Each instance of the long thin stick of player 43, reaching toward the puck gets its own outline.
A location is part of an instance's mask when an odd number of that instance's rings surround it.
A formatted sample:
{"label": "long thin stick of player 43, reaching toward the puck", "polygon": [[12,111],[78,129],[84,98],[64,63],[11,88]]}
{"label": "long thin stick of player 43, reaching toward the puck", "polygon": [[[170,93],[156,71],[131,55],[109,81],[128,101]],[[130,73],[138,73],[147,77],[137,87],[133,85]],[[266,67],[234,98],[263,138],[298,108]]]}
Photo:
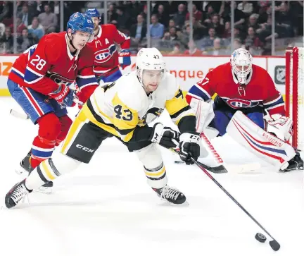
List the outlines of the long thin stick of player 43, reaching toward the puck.
{"label": "long thin stick of player 43, reaching toward the puck", "polygon": [[196,164],[196,166],[198,166],[198,168],[201,169],[205,173],[205,175],[207,175],[226,195],[228,195],[228,197],[233,202],[235,202],[236,205],[239,206],[243,210],[243,212],[245,212],[248,217],[250,217],[255,222],[255,224],[262,228],[262,230],[265,231],[265,233],[267,233],[270,238],[272,238],[272,240],[270,241],[270,247],[272,248],[272,250],[279,250],[281,245],[277,242],[277,240],[275,240],[272,235],[270,235],[270,233],[238,201],[236,201],[236,199],[227,190],[225,190],[223,186],[210,173],[208,173],[208,171],[203,166],[201,166],[198,161],[196,161],[193,157],[191,157],[191,160],[194,161],[194,164]]}

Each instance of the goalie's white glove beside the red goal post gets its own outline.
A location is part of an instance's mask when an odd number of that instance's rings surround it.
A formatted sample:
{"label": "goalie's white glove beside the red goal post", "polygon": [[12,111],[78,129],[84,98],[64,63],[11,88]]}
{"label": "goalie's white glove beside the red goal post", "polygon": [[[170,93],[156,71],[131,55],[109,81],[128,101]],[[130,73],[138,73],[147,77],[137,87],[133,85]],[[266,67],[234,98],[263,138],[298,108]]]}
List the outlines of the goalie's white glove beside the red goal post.
{"label": "goalie's white glove beside the red goal post", "polygon": [[267,113],[264,119],[267,121],[267,132],[274,133],[280,140],[287,141],[293,135],[293,121],[291,118],[280,114],[270,116]]}

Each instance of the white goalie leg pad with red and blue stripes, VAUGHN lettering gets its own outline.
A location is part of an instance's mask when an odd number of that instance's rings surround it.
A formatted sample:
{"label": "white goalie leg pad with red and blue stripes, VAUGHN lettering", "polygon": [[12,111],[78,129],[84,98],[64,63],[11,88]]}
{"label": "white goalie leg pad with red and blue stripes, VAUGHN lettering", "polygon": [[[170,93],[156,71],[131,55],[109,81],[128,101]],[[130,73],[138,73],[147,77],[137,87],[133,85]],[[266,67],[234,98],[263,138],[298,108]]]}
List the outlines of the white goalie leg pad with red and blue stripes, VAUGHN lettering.
{"label": "white goalie leg pad with red and blue stripes, VAUGHN lettering", "polygon": [[241,111],[234,114],[227,126],[227,133],[240,145],[278,170],[285,169],[288,161],[296,155],[291,145],[267,133]]}

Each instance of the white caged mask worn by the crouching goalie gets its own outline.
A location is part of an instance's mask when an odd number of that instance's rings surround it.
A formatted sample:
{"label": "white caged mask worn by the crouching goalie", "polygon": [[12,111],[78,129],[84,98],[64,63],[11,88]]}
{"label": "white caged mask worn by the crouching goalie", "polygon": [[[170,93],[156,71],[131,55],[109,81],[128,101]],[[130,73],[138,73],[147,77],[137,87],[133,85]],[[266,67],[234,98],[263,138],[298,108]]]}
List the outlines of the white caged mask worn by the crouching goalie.
{"label": "white caged mask worn by the crouching goalie", "polygon": [[252,71],[252,56],[246,49],[236,49],[231,56],[232,71],[241,84],[247,84]]}

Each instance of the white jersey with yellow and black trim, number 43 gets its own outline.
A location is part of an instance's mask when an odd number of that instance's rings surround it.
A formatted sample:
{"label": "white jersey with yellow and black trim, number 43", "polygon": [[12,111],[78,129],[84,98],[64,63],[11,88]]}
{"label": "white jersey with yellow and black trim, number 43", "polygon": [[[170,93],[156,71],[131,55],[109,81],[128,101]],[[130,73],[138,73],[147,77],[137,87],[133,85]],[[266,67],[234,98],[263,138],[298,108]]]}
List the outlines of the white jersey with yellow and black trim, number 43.
{"label": "white jersey with yellow and black trim, number 43", "polygon": [[[137,71],[97,87],[84,105],[89,121],[125,142],[132,140],[139,128],[155,120],[164,109],[177,125],[185,116],[195,116],[174,75],[165,73],[158,88],[147,95]],[[138,133],[136,137],[133,140],[148,140],[148,133]]]}

